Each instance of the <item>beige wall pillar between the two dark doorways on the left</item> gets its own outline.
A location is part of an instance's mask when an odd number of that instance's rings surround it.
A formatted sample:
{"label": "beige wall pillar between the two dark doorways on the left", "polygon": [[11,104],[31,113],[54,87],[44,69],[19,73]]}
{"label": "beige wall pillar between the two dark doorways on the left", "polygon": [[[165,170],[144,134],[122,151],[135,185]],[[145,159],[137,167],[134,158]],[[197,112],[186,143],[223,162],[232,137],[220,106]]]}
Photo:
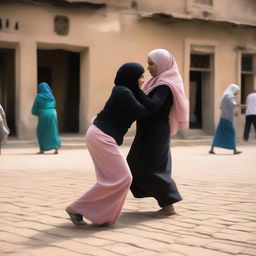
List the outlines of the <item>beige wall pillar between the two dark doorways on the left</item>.
{"label": "beige wall pillar between the two dark doorways on the left", "polygon": [[37,93],[37,45],[21,41],[16,50],[16,130],[18,139],[35,139],[31,108]]}

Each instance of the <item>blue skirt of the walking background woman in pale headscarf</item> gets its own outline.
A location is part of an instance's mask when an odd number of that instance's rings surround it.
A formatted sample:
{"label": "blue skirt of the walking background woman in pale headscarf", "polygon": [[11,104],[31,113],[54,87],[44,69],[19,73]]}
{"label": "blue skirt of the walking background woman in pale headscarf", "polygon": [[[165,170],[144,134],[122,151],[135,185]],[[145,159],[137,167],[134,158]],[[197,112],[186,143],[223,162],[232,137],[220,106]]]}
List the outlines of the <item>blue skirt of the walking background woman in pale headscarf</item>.
{"label": "blue skirt of the walking background woman in pale headscarf", "polygon": [[235,137],[236,133],[233,123],[224,118],[221,118],[217,126],[212,145],[219,148],[235,149]]}

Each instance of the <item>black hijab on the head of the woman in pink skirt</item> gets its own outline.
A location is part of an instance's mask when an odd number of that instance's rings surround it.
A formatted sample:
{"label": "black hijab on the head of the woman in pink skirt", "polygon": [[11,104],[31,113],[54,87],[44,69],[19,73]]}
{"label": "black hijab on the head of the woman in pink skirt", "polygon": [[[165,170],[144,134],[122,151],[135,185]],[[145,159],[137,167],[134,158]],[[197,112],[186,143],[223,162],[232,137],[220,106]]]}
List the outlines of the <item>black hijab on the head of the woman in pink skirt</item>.
{"label": "black hijab on the head of the woman in pink skirt", "polygon": [[136,94],[139,90],[138,80],[144,72],[143,66],[139,63],[125,63],[118,69],[114,83],[116,86],[126,86]]}

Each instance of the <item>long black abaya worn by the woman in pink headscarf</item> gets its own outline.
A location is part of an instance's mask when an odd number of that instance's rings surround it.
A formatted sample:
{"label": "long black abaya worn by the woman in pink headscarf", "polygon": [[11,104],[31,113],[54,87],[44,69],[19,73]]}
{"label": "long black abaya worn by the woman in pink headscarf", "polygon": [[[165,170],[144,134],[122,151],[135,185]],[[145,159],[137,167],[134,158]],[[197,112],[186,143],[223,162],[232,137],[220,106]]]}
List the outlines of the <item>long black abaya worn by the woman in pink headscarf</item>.
{"label": "long black abaya worn by the woman in pink headscarf", "polygon": [[173,103],[171,89],[161,85],[151,91],[155,103],[152,115],[137,120],[137,130],[127,162],[132,172],[134,197],[154,197],[160,207],[182,200],[171,178],[170,126],[168,115]]}

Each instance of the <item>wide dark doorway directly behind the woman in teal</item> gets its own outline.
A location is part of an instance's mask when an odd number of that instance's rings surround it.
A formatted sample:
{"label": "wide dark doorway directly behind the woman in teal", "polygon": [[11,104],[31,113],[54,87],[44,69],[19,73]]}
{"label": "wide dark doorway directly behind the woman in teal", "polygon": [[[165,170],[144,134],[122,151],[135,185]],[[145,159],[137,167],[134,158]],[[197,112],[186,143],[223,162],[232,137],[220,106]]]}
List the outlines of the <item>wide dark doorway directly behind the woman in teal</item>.
{"label": "wide dark doorway directly behind the woman in teal", "polygon": [[47,82],[56,99],[61,133],[79,132],[80,53],[37,50],[38,83]]}

